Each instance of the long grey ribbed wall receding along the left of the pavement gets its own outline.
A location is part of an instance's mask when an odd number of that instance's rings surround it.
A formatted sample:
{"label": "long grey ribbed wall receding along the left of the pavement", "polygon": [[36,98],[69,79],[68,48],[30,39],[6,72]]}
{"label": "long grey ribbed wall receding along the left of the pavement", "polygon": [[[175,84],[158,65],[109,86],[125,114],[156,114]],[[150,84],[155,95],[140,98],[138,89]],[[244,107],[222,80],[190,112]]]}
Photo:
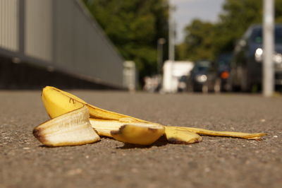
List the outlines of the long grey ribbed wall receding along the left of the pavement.
{"label": "long grey ribbed wall receding along the left of the pavement", "polygon": [[123,87],[123,59],[79,0],[0,0],[1,54]]}

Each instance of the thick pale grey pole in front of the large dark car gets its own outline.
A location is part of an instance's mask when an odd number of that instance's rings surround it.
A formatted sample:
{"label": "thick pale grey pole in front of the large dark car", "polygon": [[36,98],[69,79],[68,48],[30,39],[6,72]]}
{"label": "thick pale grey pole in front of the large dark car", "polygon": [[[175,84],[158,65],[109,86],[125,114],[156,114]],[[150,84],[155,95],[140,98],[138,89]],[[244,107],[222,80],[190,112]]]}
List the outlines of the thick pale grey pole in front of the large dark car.
{"label": "thick pale grey pole in front of the large dark car", "polygon": [[274,93],[274,0],[264,0],[263,31],[263,95],[271,97]]}

